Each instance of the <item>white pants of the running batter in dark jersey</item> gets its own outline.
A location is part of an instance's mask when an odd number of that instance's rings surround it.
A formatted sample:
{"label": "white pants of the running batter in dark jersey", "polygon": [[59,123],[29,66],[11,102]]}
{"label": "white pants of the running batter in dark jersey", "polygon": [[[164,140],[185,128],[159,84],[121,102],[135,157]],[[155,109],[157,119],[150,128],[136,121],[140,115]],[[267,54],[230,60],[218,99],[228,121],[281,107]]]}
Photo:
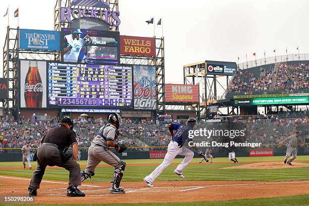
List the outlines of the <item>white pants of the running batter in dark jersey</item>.
{"label": "white pants of the running batter in dark jersey", "polygon": [[157,177],[172,163],[177,155],[185,156],[183,161],[177,166],[176,172],[182,174],[182,170],[191,162],[194,153],[186,147],[178,146],[177,142],[171,141],[168,145],[168,150],[165,155],[164,161],[153,172],[146,176],[145,179],[149,182],[153,182]]}

